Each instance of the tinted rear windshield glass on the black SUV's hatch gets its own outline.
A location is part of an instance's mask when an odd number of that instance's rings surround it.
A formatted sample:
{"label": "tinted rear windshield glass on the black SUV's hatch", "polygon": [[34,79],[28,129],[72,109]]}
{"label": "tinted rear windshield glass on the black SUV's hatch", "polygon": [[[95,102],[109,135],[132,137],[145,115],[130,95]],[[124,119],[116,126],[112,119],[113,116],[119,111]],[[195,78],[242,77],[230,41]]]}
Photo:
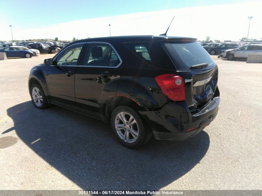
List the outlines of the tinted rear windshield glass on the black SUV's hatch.
{"label": "tinted rear windshield glass on the black SUV's hatch", "polygon": [[191,43],[163,43],[175,66],[181,70],[190,70],[193,65],[208,63],[205,69],[215,66],[215,61],[196,41]]}

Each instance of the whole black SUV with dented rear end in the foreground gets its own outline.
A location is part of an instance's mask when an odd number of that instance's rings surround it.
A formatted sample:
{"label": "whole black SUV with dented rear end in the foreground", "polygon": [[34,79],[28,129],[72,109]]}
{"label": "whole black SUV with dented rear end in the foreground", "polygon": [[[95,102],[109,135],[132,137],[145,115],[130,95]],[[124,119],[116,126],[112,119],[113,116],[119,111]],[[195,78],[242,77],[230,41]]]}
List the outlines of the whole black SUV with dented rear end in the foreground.
{"label": "whole black SUV with dented rear end in the foreground", "polygon": [[[30,71],[35,107],[55,104],[110,122],[129,148],[183,140],[214,120],[218,67],[195,38],[122,36],[78,40]],[[58,122],[59,123],[59,122]]]}

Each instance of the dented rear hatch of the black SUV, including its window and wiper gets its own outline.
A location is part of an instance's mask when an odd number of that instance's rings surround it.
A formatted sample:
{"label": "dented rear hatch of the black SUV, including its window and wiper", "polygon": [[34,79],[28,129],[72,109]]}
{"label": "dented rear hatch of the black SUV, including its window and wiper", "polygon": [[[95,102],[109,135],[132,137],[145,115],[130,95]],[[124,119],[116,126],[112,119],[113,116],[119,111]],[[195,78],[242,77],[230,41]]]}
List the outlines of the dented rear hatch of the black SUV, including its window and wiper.
{"label": "dented rear hatch of the black SUV, including its window and wiper", "polygon": [[193,38],[162,41],[175,66],[175,74],[184,79],[185,98],[191,112],[198,112],[215,96],[218,68],[215,61]]}

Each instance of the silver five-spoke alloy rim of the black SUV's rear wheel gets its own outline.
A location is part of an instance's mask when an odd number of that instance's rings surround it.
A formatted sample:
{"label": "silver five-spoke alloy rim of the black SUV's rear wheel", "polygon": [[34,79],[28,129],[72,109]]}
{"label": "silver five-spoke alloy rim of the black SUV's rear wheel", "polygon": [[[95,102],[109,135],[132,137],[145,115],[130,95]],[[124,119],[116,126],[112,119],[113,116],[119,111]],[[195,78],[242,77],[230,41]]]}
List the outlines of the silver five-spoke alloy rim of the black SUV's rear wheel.
{"label": "silver five-spoke alloy rim of the black SUV's rear wheel", "polygon": [[120,112],[115,118],[118,136],[127,143],[133,143],[138,137],[138,125],[134,117],[127,112]]}

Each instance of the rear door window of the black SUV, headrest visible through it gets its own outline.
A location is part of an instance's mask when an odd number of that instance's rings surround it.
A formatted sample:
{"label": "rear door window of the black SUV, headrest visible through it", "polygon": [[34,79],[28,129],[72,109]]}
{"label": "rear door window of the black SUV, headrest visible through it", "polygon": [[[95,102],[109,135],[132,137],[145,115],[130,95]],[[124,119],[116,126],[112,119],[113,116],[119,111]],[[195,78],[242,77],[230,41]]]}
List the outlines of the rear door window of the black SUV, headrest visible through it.
{"label": "rear door window of the black SUV, headrest visible through it", "polygon": [[120,63],[113,48],[107,44],[89,44],[83,65],[94,67],[116,67]]}

